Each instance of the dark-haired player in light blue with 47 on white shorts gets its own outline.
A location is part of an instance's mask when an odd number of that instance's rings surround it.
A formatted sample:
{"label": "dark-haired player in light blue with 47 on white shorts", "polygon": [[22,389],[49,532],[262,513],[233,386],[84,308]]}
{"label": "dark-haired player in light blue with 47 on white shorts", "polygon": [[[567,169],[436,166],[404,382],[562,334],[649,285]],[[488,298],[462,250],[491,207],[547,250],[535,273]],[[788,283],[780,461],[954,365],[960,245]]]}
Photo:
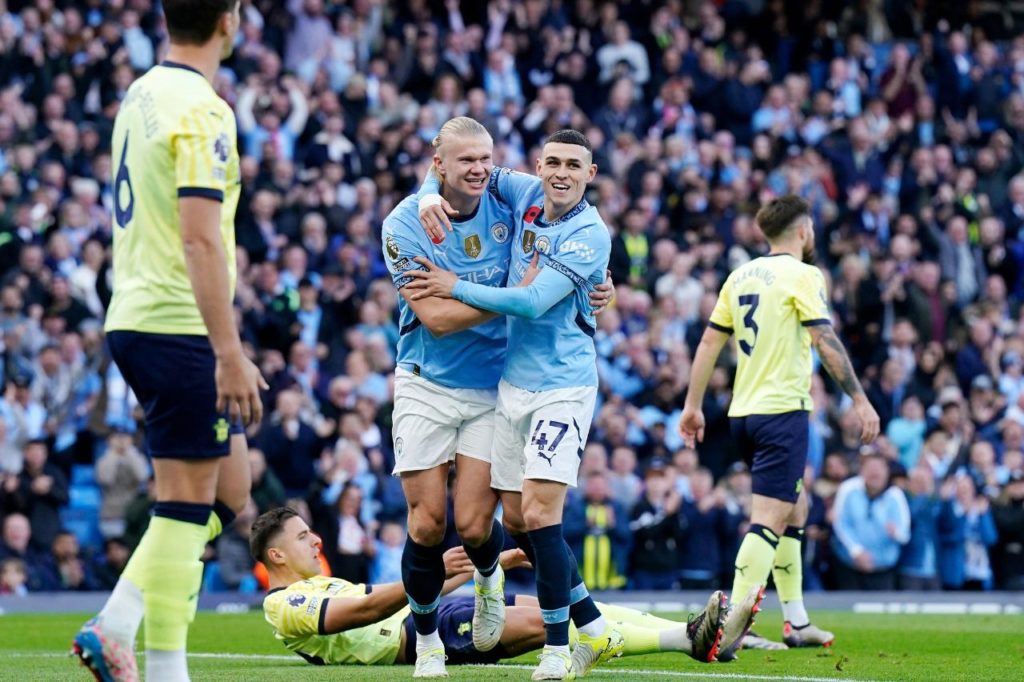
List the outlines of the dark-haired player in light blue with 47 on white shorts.
{"label": "dark-haired player in light blue with 47 on white shorts", "polygon": [[[537,571],[546,643],[532,679],[584,676],[599,660],[622,652],[622,635],[594,605],[562,538],[562,509],[575,485],[597,395],[593,311],[588,292],[603,280],[611,251],[607,227],[584,199],[593,180],[590,142],[562,130],[545,142],[540,178],[504,169],[488,188],[512,207],[516,225],[512,271],[516,284],[535,252],[536,280],[516,289],[483,287],[418,258],[406,290],[420,297],[451,297],[510,315],[509,350],[499,384],[492,487],[501,491],[506,517],[525,522]],[[421,189],[429,193],[431,183]],[[436,187],[436,183],[433,183]],[[424,213],[439,204],[423,196]],[[441,212],[440,209],[436,209]],[[425,220],[426,222],[426,220]],[[521,492],[521,495],[520,495]],[[580,633],[569,654],[568,621]]]}

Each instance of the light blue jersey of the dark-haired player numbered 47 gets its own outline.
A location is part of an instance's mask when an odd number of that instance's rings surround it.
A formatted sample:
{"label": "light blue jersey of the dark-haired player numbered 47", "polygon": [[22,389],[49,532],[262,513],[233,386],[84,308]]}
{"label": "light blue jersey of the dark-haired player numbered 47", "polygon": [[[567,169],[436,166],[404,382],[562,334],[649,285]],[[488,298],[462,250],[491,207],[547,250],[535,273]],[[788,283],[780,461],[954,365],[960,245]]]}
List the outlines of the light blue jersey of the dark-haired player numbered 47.
{"label": "light blue jersey of the dark-haired player numbered 47", "polygon": [[[495,168],[488,194],[512,208],[515,233],[507,286],[522,280],[535,251],[541,253],[544,269],[527,288],[535,290],[532,296],[526,289],[483,292],[460,284],[456,298],[510,315],[502,375],[510,384],[530,391],[596,386],[595,321],[589,295],[604,281],[608,266],[607,226],[586,200],[558,220],[546,222],[540,178],[507,168]],[[567,279],[570,288],[546,269]],[[545,300],[555,288],[566,293],[557,301]]]}

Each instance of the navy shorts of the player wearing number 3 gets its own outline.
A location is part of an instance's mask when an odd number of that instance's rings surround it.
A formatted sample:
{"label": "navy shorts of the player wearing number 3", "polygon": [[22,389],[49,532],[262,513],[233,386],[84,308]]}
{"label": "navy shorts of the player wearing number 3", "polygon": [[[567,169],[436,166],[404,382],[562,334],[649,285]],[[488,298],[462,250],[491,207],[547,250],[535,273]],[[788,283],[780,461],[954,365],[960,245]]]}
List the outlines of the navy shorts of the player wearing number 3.
{"label": "navy shorts of the player wearing number 3", "polygon": [[803,487],[810,413],[750,415],[729,420],[732,439],[751,467],[755,495],[796,502]]}

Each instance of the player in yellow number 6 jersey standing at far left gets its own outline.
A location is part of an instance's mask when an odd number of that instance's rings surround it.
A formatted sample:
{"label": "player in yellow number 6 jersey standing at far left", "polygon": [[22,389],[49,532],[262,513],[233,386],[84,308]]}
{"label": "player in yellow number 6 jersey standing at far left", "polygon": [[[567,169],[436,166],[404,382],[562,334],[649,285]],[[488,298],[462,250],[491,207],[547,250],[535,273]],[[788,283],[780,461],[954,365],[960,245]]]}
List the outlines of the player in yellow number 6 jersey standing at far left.
{"label": "player in yellow number 6 jersey standing at far left", "polygon": [[268,388],[246,355],[231,300],[241,185],[234,113],[214,90],[239,0],[162,0],[166,58],[137,78],[111,136],[114,287],[103,330],[145,414],[156,504],[102,610],[74,652],[100,682],[187,682],[201,557],[249,500],[244,426]]}

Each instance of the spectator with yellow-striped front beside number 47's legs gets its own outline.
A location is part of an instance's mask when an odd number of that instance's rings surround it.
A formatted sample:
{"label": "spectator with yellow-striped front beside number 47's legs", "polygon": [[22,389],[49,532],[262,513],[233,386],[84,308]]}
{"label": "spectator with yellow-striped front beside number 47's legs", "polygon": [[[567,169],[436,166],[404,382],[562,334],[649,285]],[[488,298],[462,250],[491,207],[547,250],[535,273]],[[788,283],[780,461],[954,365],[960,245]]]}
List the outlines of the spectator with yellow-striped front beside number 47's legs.
{"label": "spectator with yellow-striped front beside number 47's legs", "polygon": [[595,590],[622,588],[630,547],[629,516],[611,499],[606,473],[588,474],[582,493],[566,502],[562,521],[565,542],[588,586]]}

